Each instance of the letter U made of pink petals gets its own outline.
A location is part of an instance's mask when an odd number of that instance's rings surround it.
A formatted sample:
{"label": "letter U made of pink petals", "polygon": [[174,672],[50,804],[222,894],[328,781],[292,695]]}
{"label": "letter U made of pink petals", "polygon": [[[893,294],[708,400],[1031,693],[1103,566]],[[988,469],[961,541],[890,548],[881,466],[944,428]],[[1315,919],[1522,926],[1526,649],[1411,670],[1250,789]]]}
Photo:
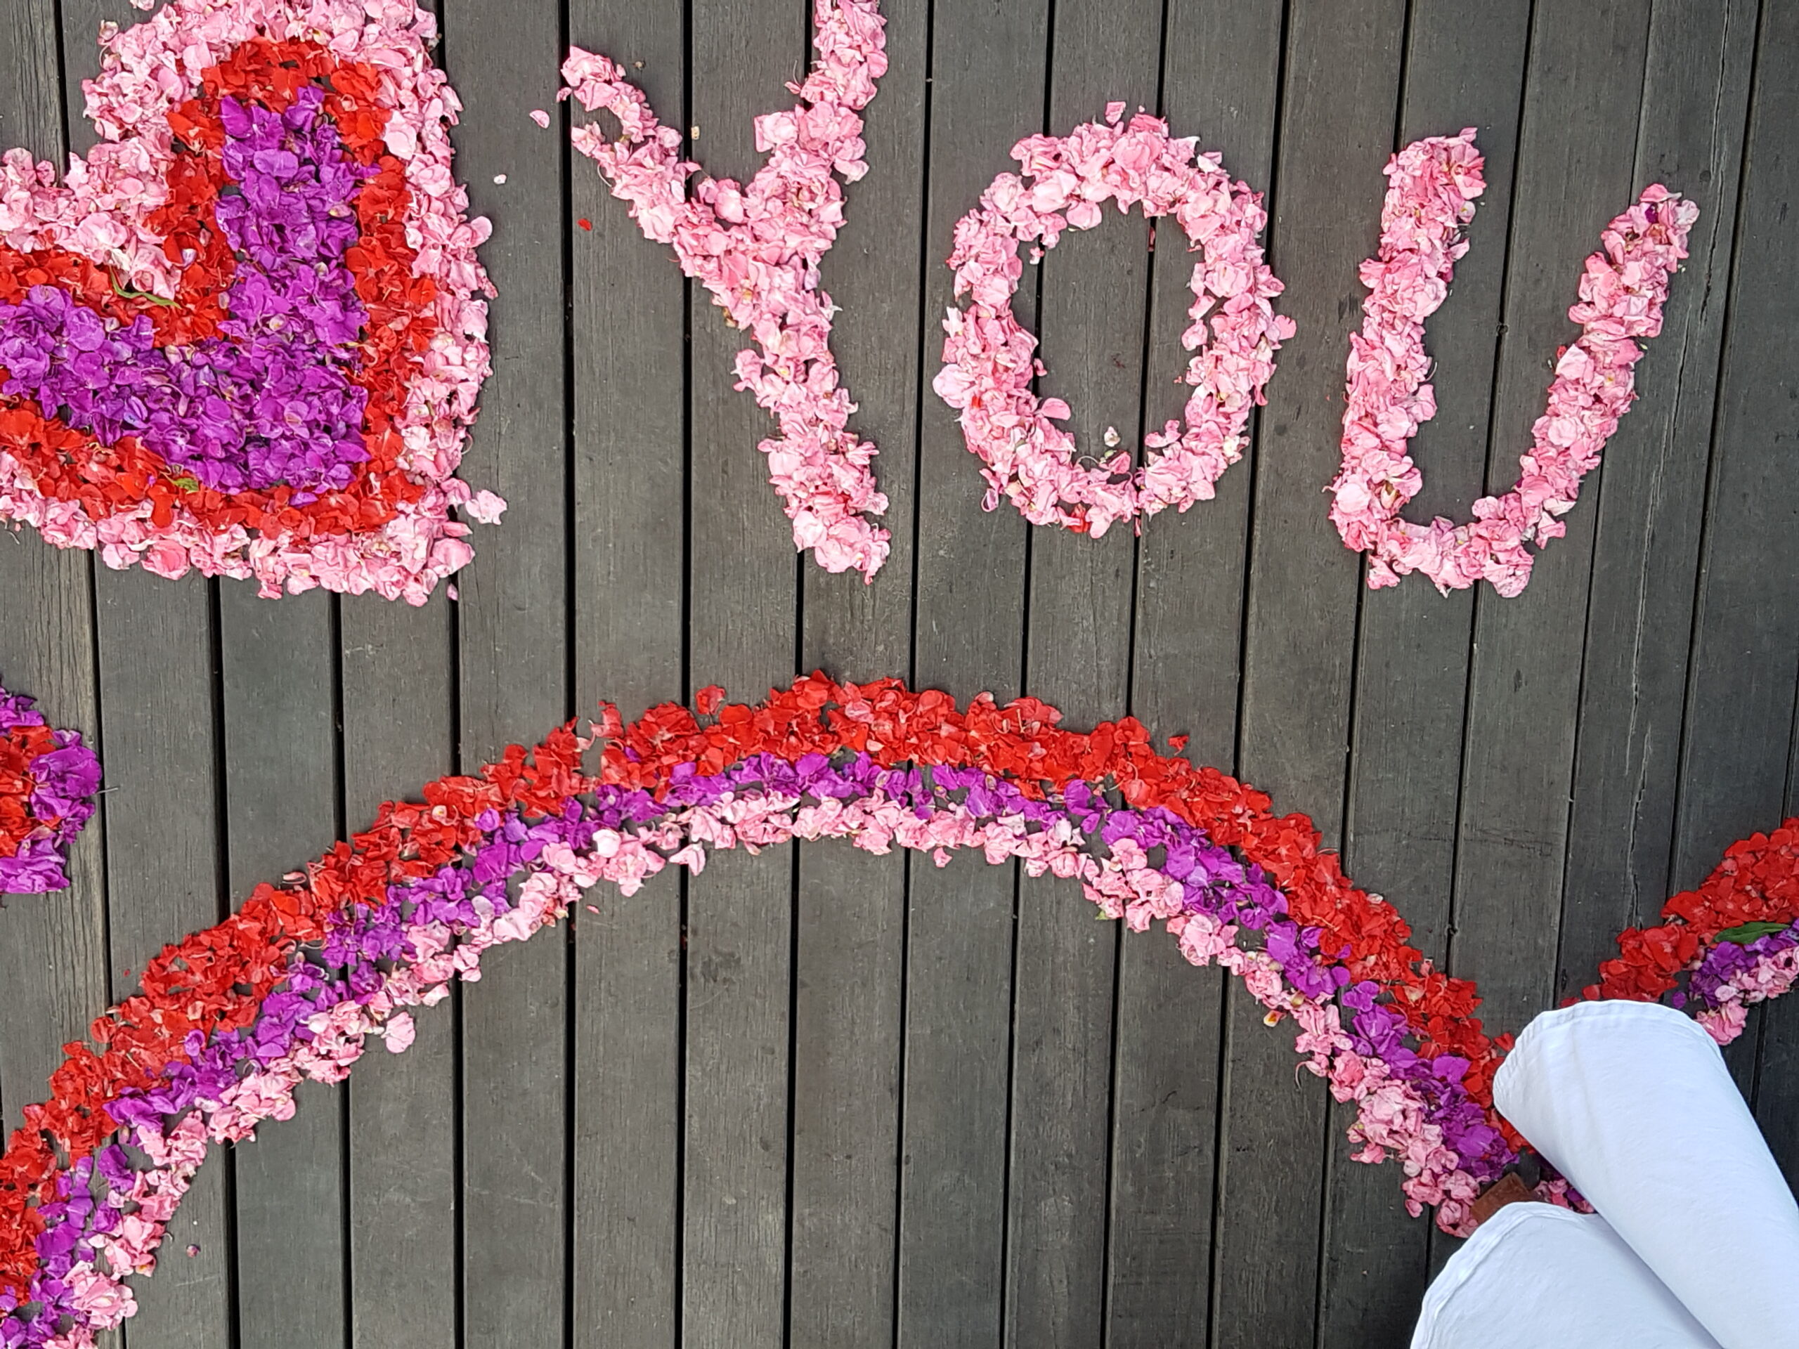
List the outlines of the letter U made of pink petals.
{"label": "letter U made of pink petals", "polygon": [[1698,218],[1695,203],[1655,183],[1605,227],[1605,248],[1587,259],[1580,304],[1569,309],[1581,336],[1556,360],[1517,486],[1477,500],[1468,523],[1437,516],[1418,525],[1400,509],[1423,486],[1407,444],[1437,412],[1425,378],[1425,318],[1448,297],[1455,259],[1468,252],[1463,236],[1486,191],[1481,167],[1473,128],[1414,140],[1387,162],[1380,254],[1362,263],[1369,297],[1362,331],[1349,336],[1342,468],[1331,482],[1331,523],[1344,545],[1369,556],[1373,590],[1407,572],[1423,572],[1443,594],[1475,581],[1508,597],[1524,590],[1535,561],[1526,545],[1567,531],[1562,516],[1635,398],[1637,340],[1660,333],[1668,282]]}

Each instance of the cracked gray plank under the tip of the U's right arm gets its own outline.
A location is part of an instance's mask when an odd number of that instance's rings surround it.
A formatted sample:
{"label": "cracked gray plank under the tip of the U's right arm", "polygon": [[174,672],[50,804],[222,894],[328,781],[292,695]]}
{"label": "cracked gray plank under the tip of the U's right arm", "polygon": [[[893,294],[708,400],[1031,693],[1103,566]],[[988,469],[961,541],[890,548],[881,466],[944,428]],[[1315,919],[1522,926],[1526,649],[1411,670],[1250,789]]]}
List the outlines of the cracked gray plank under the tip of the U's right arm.
{"label": "cracked gray plank under the tip of the U's right arm", "polygon": [[1655,923],[1669,894],[1756,9],[1747,0],[1659,0],[1650,22],[1635,185],[1664,182],[1702,214],[1662,335],[1637,367],[1633,441],[1608,457],[1599,482],[1558,996],[1594,978],[1623,928]]}

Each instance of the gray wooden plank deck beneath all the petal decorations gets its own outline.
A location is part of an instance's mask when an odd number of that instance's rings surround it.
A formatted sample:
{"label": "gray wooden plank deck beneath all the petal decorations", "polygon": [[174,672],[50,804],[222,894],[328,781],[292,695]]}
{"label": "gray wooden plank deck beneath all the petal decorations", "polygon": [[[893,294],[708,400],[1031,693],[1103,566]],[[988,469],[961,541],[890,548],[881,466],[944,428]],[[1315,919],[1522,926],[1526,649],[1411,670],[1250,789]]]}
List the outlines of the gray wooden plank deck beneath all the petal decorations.
{"label": "gray wooden plank deck beneath all the petal decorations", "polygon": [[[1799,4],[885,9],[873,171],[824,264],[892,498],[876,585],[795,559],[736,335],[525,119],[572,38],[642,61],[705,165],[747,176],[804,0],[441,0],[500,286],[466,477],[511,502],[461,601],[264,603],[0,538],[0,676],[88,732],[108,782],[74,890],[0,912],[7,1128],[162,943],[603,696],[635,714],[822,666],[1191,732],[1308,811],[1497,1027],[1799,809]],[[92,34],[131,16],[0,4],[0,140],[88,144]],[[1268,192],[1299,336],[1216,502],[1092,541],[982,513],[928,383],[952,223],[1016,138],[1108,99]],[[1641,401],[1517,601],[1367,592],[1320,491],[1380,167],[1463,126],[1491,187],[1430,326],[1427,513],[1513,480],[1601,225],[1655,180],[1704,210]],[[1020,295],[1088,444],[1178,410],[1187,268],[1108,218]],[[131,1349],[1353,1349],[1403,1344],[1446,1255],[1392,1167],[1349,1160],[1288,1034],[1069,883],[802,847],[595,903],[209,1166]],[[1799,1167],[1799,998],[1732,1065]]]}

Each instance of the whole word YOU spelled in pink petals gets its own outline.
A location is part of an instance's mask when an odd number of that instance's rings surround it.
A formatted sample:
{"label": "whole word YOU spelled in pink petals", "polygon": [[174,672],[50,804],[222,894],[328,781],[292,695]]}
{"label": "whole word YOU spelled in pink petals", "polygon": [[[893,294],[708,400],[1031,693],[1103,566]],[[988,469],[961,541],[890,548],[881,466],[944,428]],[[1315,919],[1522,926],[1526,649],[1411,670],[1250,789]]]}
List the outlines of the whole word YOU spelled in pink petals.
{"label": "whole word YOU spelled in pink petals", "polygon": [[[804,85],[790,86],[799,104],[756,121],[768,160],[748,187],[702,176],[689,191],[700,165],[680,156],[680,133],[657,121],[612,59],[572,49],[561,94],[617,119],[617,138],[592,124],[576,128],[576,149],[599,165],[646,236],[673,245],[727,322],[754,336],[756,347],[738,353],[738,389],[779,424],[761,450],[795,545],[828,570],[867,577],[887,558],[887,531],[874,523],[887,498],[874,480],[876,448],[847,424],[855,403],[831,356],[835,306],[819,288],[819,264],[844,221],[838,178],[867,171],[860,113],[887,68],[882,25],[876,0],[819,0],[819,59]],[[1124,104],[1112,103],[1103,121],[1065,137],[1020,140],[1013,158],[1022,173],[998,174],[957,223],[948,263],[957,297],[970,302],[944,320],[934,389],[982,462],[989,511],[1006,498],[1031,523],[1099,536],[1119,520],[1141,525],[1168,507],[1209,500],[1243,455],[1249,417],[1293,324],[1272,309],[1283,286],[1259,243],[1259,196],[1196,144],[1148,113],[1126,121]],[[1558,353],[1517,486],[1475,502],[1472,522],[1416,525],[1400,511],[1421,486],[1407,444],[1436,414],[1423,322],[1448,297],[1454,263],[1466,252],[1481,167],[1466,130],[1418,140],[1385,169],[1380,254],[1362,264],[1371,295],[1362,331],[1349,336],[1342,468],[1329,484],[1331,522],[1349,549],[1369,554],[1371,586],[1418,570],[1445,592],[1475,581],[1500,595],[1524,590],[1533,549],[1563,532],[1581,477],[1633,399],[1641,342],[1660,331],[1668,282],[1698,212],[1653,185],[1605,228],[1569,311],[1580,340]],[[1173,216],[1200,254],[1182,333],[1195,353],[1182,376],[1193,394],[1182,421],[1144,435],[1139,466],[1126,450],[1081,459],[1058,426],[1069,405],[1033,389],[1047,371],[1036,336],[1011,308],[1024,275],[1018,246],[1029,243],[1031,261],[1040,261],[1065,228],[1094,228],[1106,201],[1124,212],[1141,207],[1151,221]]]}

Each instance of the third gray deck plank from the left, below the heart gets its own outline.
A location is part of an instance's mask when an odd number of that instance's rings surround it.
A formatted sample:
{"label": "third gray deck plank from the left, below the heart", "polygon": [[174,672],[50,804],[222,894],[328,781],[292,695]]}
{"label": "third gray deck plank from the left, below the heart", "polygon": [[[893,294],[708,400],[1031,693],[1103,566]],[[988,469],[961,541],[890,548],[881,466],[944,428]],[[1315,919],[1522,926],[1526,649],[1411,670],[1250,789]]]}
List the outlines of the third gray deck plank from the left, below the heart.
{"label": "third gray deck plank from the left, below the heart", "polygon": [[[219,585],[225,849],[232,901],[338,836],[336,642],[322,590],[257,599]],[[236,1149],[245,1344],[345,1340],[344,1094],[300,1083],[293,1119]]]}

